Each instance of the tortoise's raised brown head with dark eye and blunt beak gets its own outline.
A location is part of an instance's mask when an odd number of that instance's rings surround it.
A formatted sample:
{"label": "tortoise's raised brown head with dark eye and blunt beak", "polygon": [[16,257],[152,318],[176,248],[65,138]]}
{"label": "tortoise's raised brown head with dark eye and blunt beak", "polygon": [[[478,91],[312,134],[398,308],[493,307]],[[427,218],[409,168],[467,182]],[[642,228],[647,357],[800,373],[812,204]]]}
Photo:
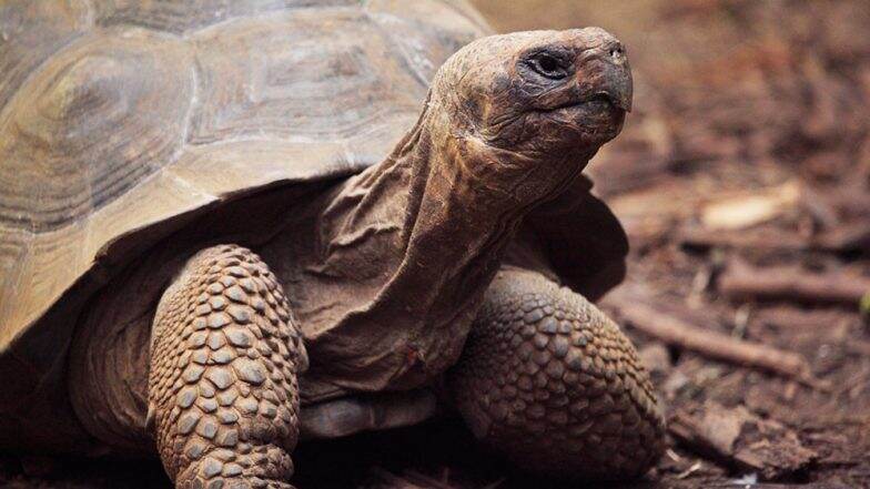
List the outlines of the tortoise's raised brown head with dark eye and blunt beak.
{"label": "tortoise's raised brown head with dark eye and blunt beak", "polygon": [[623,44],[603,29],[494,35],[445,63],[431,103],[445,105],[466,154],[483,156],[466,163],[473,173],[540,200],[619,133],[631,71]]}

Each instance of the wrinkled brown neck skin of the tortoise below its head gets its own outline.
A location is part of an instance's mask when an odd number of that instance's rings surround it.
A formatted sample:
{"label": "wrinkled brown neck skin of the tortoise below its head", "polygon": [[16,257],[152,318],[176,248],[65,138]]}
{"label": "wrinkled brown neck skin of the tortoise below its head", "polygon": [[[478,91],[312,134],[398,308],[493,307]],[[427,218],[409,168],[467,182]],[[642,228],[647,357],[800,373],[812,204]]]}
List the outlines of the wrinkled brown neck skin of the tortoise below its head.
{"label": "wrinkled brown neck skin of the tortoise below its head", "polygon": [[318,211],[313,262],[289,287],[312,361],[303,401],[409,389],[453,365],[523,216],[591,156],[565,156],[553,175],[458,132],[452,112],[428,103],[390,157]]}

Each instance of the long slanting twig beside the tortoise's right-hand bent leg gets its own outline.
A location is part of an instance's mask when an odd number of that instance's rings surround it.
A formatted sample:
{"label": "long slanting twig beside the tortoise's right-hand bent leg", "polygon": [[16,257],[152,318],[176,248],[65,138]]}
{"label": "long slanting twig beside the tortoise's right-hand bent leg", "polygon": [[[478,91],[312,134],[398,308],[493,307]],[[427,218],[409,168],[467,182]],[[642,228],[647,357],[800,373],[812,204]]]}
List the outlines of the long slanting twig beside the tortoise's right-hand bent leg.
{"label": "long slanting twig beside the tortoise's right-hand bent leg", "polygon": [[810,377],[807,360],[796,353],[698,328],[672,314],[662,313],[645,304],[643,299],[625,294],[608,296],[605,304],[613,305],[617,315],[636,329],[668,345],[690,349],[706,357],[798,378],[810,385],[818,384]]}

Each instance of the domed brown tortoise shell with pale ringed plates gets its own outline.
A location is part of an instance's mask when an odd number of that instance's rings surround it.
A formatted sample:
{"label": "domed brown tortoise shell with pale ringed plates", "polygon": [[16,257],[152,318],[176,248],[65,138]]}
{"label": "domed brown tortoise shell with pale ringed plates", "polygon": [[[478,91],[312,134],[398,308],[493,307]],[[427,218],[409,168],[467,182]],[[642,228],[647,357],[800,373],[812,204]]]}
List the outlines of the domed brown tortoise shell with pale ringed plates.
{"label": "domed brown tortoise shell with pale ringed plates", "polygon": [[464,0],[92,3],[0,7],[0,371],[188,217],[382,160],[487,31]]}

